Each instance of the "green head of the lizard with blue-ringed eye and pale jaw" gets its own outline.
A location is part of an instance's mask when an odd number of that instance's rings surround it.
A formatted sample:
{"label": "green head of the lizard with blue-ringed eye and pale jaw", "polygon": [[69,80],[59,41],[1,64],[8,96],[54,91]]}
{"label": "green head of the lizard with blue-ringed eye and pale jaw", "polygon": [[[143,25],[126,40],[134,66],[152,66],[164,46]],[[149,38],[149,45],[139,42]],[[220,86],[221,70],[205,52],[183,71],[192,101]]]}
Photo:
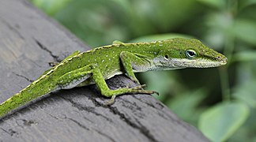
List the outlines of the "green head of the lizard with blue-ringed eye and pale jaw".
{"label": "green head of the lizard with blue-ringed eye and pale jaw", "polygon": [[162,45],[156,60],[166,69],[209,68],[225,65],[228,59],[206,47],[198,39],[168,39]]}

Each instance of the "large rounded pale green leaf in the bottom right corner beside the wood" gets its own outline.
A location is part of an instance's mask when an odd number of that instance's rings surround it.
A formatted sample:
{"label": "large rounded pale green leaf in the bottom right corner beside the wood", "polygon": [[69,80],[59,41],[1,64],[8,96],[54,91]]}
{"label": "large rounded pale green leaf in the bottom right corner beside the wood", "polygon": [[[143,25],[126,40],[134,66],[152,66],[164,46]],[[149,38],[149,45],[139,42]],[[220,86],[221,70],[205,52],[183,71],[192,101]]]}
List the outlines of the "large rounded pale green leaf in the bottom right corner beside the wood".
{"label": "large rounded pale green leaf in the bottom right corner beside the wood", "polygon": [[199,118],[199,129],[212,141],[225,141],[247,120],[249,108],[244,103],[220,103]]}

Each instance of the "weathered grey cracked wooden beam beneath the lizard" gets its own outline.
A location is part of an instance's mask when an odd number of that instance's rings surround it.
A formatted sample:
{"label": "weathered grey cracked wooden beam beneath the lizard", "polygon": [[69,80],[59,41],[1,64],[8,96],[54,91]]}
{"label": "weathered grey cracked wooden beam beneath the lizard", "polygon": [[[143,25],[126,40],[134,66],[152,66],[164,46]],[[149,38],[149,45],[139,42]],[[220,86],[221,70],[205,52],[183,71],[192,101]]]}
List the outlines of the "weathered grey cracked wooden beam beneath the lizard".
{"label": "weathered grey cracked wooden beam beneath the lizard", "polygon": [[[88,35],[89,36],[89,35]],[[0,102],[74,50],[77,38],[24,0],[0,1]],[[135,85],[125,76],[112,89]],[[150,95],[122,95],[111,107],[94,85],[51,93],[0,121],[0,141],[208,141]]]}

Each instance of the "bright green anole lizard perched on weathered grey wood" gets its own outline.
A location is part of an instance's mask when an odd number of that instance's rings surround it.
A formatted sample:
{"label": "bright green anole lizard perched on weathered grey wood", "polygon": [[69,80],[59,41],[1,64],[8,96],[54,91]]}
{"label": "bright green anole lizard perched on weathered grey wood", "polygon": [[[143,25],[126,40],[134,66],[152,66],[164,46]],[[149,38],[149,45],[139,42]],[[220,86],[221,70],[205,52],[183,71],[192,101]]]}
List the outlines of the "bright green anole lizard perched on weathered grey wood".
{"label": "bright green anole lizard perched on weathered grey wood", "polygon": [[197,39],[177,38],[150,43],[115,41],[108,46],[70,54],[21,92],[1,103],[0,118],[50,92],[88,84],[96,84],[102,95],[111,97],[109,103],[114,103],[116,95],[156,93],[143,90],[143,85],[110,90],[105,80],[122,73],[126,73],[127,77],[139,84],[134,76],[137,72],[209,68],[226,63],[227,58],[223,54],[206,47]]}

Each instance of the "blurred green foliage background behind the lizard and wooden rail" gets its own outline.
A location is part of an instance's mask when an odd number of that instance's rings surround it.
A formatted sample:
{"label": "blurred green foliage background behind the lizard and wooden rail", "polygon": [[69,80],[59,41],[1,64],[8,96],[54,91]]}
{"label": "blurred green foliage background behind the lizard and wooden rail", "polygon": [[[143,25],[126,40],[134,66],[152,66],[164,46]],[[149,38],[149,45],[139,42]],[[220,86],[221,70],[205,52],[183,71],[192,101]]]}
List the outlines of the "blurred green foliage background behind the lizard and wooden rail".
{"label": "blurred green foliage background behind the lizard and wooden rail", "polygon": [[256,141],[256,0],[31,0],[91,47],[194,37],[228,65],[140,73],[213,141]]}

